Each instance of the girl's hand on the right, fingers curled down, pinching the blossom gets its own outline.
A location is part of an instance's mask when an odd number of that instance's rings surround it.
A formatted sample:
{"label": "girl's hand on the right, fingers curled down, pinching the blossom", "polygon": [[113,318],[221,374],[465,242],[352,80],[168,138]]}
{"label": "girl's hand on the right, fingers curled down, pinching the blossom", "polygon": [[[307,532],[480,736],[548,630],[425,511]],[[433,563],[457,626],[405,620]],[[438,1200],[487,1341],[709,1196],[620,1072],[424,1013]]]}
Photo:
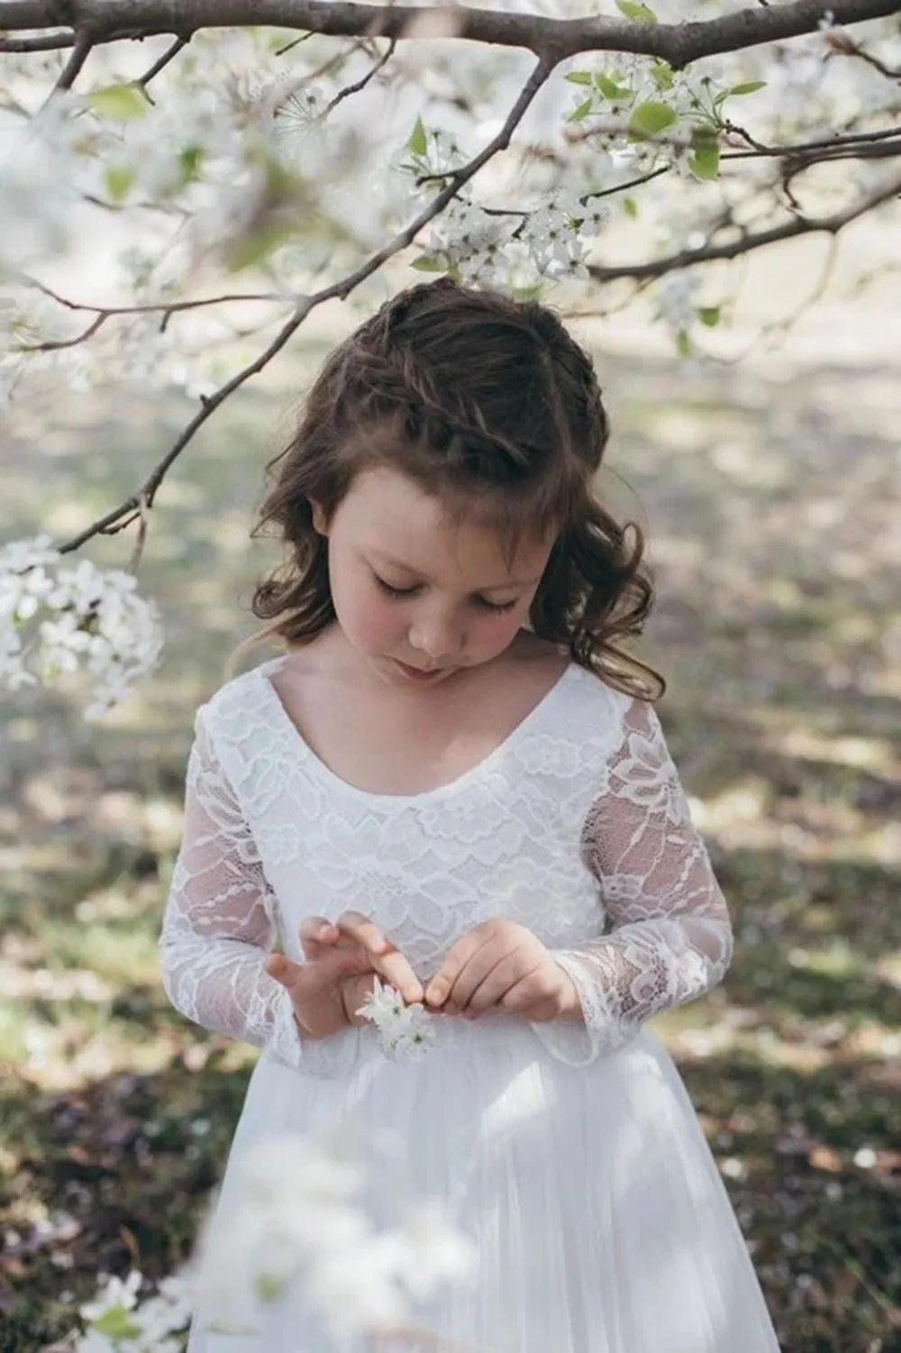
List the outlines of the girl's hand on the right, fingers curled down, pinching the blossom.
{"label": "girl's hand on the right, fingers curled down, pinching the blossom", "polygon": [[502,917],[468,931],[426,986],[426,1005],[478,1019],[492,1007],[532,1023],[582,1019],[575,984],[541,940]]}

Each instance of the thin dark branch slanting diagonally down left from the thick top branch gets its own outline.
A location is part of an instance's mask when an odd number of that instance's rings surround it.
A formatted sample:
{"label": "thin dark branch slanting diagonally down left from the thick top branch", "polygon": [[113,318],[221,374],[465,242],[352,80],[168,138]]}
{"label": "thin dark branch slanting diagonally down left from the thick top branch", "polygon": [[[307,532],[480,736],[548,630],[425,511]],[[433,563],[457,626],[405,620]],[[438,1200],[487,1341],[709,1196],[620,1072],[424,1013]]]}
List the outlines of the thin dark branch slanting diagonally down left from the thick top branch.
{"label": "thin dark branch slanting diagonally down left from the thick top branch", "polygon": [[321,291],[317,291],[311,296],[304,296],[303,300],[300,300],[295,307],[295,311],[291,315],[291,318],[281,326],[279,333],[275,336],[269,346],[262,353],[260,353],[260,356],[254,361],[249,363],[249,365],[244,367],[230,380],[227,380],[223,386],[221,386],[214,395],[202,399],[200,402],[202,406],[199,411],[191,419],[184,432],[179,436],[175,445],[164,456],[160,464],[156,465],[156,468],[150,472],[150,475],[141,486],[141,488],[135,494],[133,494],[131,498],[126,499],[126,502],[123,502],[119,507],[115,507],[112,511],[107,513],[106,517],[101,517],[99,521],[95,521],[93,525],[88,526],[85,530],[83,530],[73,540],[68,541],[65,545],[61,545],[60,552],[64,555],[70,553],[72,551],[78,549],[81,545],[84,545],[85,541],[91,540],[92,536],[97,536],[101,533],[115,534],[116,530],[122,530],[123,526],[127,525],[127,521],[126,522],[122,521],[123,517],[133,520],[129,514],[141,510],[142,503],[146,507],[152,507],[154,495],[160,484],[162,483],[166,471],[179,459],[179,456],[188,445],[188,442],[192,441],[195,433],[215,413],[215,410],[222,403],[225,403],[229,395],[234,394],[235,390],[239,390],[239,387],[244,386],[252,376],[256,376],[258,372],[261,372],[262,368],[267,367],[268,363],[272,361],[272,359],[279,352],[281,352],[284,345],[296,333],[296,330],[300,327],[307,315],[313,310],[315,310],[317,306],[323,304],[326,300],[333,300],[333,299],[345,300],[354,290],[354,287],[359,287],[361,281],[365,281],[367,277],[372,276],[373,272],[377,272],[377,269],[382,268],[382,265],[387,262],[388,258],[392,258],[395,254],[400,253],[402,249],[406,249],[407,245],[413,244],[413,241],[419,234],[422,227],[426,226],[430,221],[433,221],[441,211],[444,211],[451,199],[456,196],[456,193],[460,191],[460,188],[464,187],[464,184],[467,184],[472,177],[475,177],[479,169],[482,169],[483,165],[488,162],[488,160],[491,160],[495,154],[498,154],[498,152],[506,150],[506,147],[510,145],[510,138],[513,137],[513,133],[522,122],[522,118],[525,116],[538,89],[541,89],[541,87],[547,83],[548,77],[551,76],[555,68],[555,64],[556,62],[552,60],[538,60],[538,62],[532,70],[532,74],[529,76],[522,89],[519,91],[519,95],[515,103],[513,104],[510,112],[507,114],[503,127],[496,134],[496,137],[494,137],[488,142],[488,145],[479,152],[478,156],[475,156],[472,160],[469,160],[468,164],[465,164],[461,169],[457,170],[452,181],[445,188],[442,188],[436,198],[432,199],[429,206],[425,207],[419,212],[419,215],[410,222],[409,226],[406,226],[398,235],[395,235],[394,239],[388,241],[387,245],[384,245],[382,249],[373,253],[364,264],[360,265],[360,268],[356,269],[356,272],[352,272],[348,277],[344,277],[341,281],[336,281],[331,283],[331,285],[329,287],[323,287]]}

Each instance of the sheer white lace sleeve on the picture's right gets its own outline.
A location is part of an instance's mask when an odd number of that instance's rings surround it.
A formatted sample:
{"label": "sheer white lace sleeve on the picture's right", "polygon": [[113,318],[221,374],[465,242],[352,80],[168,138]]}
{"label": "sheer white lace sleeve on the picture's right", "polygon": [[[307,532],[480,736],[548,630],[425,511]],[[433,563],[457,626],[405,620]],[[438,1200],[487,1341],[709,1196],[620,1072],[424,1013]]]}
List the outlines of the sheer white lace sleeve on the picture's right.
{"label": "sheer white lace sleeve on the picture's right", "polygon": [[662,1011],[703,996],[732,959],[732,925],[651,705],[636,701],[609,783],[583,831],[613,930],[556,951],[579,992],[584,1027],[536,1026],[576,1065],[616,1049]]}

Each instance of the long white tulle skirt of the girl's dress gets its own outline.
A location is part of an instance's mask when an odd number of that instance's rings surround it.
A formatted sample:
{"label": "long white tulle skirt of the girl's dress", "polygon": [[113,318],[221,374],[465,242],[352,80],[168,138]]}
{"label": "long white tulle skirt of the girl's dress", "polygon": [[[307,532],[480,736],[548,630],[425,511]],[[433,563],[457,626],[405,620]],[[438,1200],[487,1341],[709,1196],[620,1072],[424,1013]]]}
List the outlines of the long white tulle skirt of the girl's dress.
{"label": "long white tulle skirt of the girl's dress", "polygon": [[[438,1045],[414,1063],[387,1061],[372,1030],[349,1035],[359,1051],[344,1070],[326,1045],[306,1072],[262,1054],[212,1227],[239,1224],[229,1204],[245,1151],[265,1150],[272,1134],[344,1122],[364,1151],[372,1143],[373,1158],[395,1134],[403,1187],[442,1203],[475,1245],[475,1272],[417,1312],[448,1346],[779,1353],[716,1162],[651,1030],[576,1068],[517,1022],[441,1026]],[[334,1349],[296,1302],[273,1307],[254,1335],[212,1333],[215,1316],[198,1311],[188,1353]],[[409,1342],[377,1345],[402,1346],[410,1353]]]}

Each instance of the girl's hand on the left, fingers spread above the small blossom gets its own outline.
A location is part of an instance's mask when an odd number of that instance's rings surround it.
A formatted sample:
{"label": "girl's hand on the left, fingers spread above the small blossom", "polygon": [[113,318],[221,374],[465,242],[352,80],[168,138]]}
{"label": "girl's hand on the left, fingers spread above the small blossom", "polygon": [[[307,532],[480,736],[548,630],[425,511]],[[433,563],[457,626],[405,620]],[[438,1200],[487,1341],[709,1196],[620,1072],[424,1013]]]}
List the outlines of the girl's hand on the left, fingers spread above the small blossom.
{"label": "girl's hand on the left, fingers spread above the small blossom", "polygon": [[264,966],[288,990],[303,1038],[329,1038],[364,1024],[357,1011],[376,976],[405,1001],[422,1000],[422,984],[403,954],[360,912],[345,912],[337,924],[307,916],[299,934],[304,963],[271,954]]}

